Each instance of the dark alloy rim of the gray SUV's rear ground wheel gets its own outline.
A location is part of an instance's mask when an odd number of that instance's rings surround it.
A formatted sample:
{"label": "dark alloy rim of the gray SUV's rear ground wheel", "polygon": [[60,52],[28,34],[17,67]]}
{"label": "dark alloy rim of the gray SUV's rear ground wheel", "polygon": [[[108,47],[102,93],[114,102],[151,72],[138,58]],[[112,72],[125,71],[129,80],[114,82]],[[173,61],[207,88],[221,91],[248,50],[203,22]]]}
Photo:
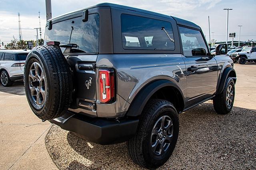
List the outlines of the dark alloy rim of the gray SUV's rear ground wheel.
{"label": "dark alloy rim of the gray SUV's rear ground wheel", "polygon": [[168,115],[160,117],[151,133],[151,149],[156,155],[161,155],[170,147],[173,135],[172,119]]}

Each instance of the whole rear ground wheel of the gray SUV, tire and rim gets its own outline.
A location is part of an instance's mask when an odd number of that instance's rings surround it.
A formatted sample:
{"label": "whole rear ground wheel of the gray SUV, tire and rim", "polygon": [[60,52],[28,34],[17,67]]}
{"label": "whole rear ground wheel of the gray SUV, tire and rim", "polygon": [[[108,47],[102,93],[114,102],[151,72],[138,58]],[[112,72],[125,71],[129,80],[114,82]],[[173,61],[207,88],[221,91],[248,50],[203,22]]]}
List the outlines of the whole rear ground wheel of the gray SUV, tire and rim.
{"label": "whole rear ground wheel of the gray SUV, tire and rim", "polygon": [[140,117],[136,135],[127,142],[132,160],[144,168],[158,168],[171,156],[179,133],[175,107],[166,100],[150,100]]}

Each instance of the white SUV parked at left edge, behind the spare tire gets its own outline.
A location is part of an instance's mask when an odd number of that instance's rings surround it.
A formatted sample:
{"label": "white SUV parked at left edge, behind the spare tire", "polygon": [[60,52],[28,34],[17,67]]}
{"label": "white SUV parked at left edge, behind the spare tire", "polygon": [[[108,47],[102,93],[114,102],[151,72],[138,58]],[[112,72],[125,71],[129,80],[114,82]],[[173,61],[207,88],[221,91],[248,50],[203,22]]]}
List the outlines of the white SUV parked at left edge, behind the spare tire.
{"label": "white SUV parked at left edge, behind the spare tire", "polygon": [[0,50],[0,82],[3,86],[11,86],[13,81],[23,78],[28,53],[26,50]]}

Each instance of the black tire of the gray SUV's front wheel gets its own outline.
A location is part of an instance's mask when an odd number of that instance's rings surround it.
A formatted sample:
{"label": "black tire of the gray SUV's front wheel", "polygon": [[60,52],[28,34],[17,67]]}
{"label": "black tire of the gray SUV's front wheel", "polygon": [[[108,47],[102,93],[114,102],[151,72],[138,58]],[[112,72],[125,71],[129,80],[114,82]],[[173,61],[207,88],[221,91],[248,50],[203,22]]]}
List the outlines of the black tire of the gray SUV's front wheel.
{"label": "black tire of the gray SUV's front wheel", "polygon": [[[229,87],[232,86],[232,101],[231,102],[227,102],[228,100],[228,91],[229,91]],[[229,95],[231,98],[231,95]],[[225,115],[227,113],[229,113],[232,110],[233,104],[234,104],[234,99],[235,99],[235,83],[234,80],[231,77],[228,77],[224,86],[223,91],[216,95],[213,99],[213,106],[214,106],[214,110],[218,113],[218,114],[222,114]]]}

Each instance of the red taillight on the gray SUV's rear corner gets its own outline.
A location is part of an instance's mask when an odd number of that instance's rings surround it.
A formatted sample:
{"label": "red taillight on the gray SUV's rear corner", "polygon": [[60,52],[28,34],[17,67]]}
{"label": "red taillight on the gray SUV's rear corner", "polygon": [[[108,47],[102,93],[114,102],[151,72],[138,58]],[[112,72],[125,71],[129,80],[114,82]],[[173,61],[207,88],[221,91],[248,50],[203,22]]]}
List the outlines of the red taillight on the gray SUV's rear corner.
{"label": "red taillight on the gray SUV's rear corner", "polygon": [[100,102],[109,103],[115,98],[115,82],[113,69],[100,69]]}

